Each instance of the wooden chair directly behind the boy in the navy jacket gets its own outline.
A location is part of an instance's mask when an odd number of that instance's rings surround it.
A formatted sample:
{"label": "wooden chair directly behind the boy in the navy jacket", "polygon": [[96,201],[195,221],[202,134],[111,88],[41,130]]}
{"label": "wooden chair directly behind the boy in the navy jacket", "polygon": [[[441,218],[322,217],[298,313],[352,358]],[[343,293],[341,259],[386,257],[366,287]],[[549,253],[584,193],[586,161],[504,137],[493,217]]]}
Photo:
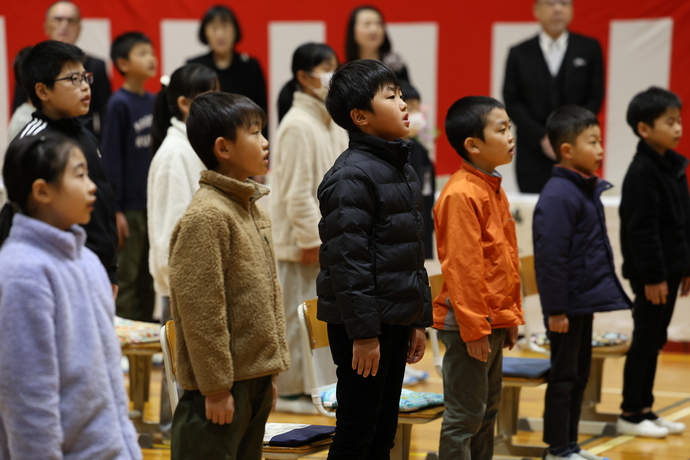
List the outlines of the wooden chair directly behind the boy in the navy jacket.
{"label": "wooden chair directly behind the boy in the navy jacket", "polygon": [[[537,276],[534,270],[534,256],[520,258],[520,278],[522,282],[522,294],[527,297],[538,295]],[[530,347],[542,353],[549,353],[548,346],[541,347],[532,342],[529,328],[526,328],[527,340]],[[601,402],[601,388],[604,379],[604,360],[606,358],[622,358],[630,348],[630,341],[618,345],[595,346],[592,348],[592,366],[589,374],[587,387],[582,400],[582,410],[580,412],[579,431],[586,434],[603,434],[605,436],[616,436],[616,420],[618,414],[607,414],[597,412],[596,406]],[[543,424],[542,419],[528,419],[528,426],[532,429],[539,429]]]}

